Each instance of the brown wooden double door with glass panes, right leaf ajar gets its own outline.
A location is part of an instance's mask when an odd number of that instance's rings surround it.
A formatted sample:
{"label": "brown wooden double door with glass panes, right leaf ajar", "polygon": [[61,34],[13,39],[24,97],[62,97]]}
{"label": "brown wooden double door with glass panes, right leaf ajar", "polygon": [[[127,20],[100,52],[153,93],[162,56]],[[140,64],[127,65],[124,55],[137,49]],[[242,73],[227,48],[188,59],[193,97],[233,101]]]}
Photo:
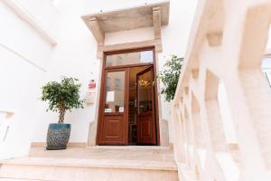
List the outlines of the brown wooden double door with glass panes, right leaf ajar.
{"label": "brown wooden double door with glass panes, right leaf ajar", "polygon": [[[98,145],[128,145],[134,107],[135,145],[157,145],[154,65],[113,68],[103,72],[98,119]],[[132,73],[131,73],[132,72]],[[131,81],[131,80],[135,81]],[[132,90],[135,90],[131,101]],[[131,111],[131,112],[129,112]],[[132,116],[132,117],[133,117]]]}

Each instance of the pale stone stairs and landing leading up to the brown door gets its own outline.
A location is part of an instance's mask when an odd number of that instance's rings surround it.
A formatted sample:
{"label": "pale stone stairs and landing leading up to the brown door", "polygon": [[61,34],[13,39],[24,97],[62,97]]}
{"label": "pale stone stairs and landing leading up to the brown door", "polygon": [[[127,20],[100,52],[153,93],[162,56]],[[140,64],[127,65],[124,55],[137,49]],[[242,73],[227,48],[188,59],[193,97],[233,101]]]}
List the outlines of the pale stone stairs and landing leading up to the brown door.
{"label": "pale stone stairs and landing leading up to the brown door", "polygon": [[[37,152],[36,155],[33,154],[31,157],[2,161],[0,181],[178,180],[177,167],[173,161],[172,150],[169,148],[84,149],[72,151],[73,154],[79,154],[74,155],[74,157],[67,157],[69,149],[66,152],[65,150],[62,151],[62,153],[61,151],[42,150],[45,154],[43,156],[41,156],[42,152]],[[100,155],[98,155],[98,152],[100,152]],[[88,157],[82,153],[85,153]],[[51,157],[46,154],[51,154]]]}

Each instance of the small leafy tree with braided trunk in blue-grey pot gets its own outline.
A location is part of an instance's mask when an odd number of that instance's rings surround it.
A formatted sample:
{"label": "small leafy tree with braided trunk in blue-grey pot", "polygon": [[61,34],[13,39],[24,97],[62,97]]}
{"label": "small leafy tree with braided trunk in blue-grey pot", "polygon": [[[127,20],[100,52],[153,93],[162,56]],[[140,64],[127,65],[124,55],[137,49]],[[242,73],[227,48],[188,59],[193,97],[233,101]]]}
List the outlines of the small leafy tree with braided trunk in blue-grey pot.
{"label": "small leafy tree with braided trunk in blue-grey pot", "polygon": [[80,84],[77,79],[64,77],[61,82],[51,81],[42,87],[42,100],[48,101],[46,111],[59,112],[59,122],[51,123],[47,133],[47,150],[67,148],[70,138],[70,124],[64,123],[66,110],[83,108],[79,100]]}

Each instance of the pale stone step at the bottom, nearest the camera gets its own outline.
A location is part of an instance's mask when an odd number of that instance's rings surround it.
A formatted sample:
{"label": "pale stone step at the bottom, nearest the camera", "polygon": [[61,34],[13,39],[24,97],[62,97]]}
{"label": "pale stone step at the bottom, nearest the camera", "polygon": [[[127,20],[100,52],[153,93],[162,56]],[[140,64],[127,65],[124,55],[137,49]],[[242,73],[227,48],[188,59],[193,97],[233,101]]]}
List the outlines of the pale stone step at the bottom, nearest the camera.
{"label": "pale stone step at the bottom, nearest the camera", "polygon": [[0,178],[44,181],[174,181],[170,161],[23,157],[2,161]]}

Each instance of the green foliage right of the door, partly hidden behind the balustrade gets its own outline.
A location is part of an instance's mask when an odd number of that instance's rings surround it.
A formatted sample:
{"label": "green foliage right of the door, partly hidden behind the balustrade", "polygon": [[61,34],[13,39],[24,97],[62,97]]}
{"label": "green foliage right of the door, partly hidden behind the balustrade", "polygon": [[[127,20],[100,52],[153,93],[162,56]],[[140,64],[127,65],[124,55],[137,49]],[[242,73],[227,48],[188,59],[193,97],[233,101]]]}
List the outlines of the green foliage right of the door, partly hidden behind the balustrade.
{"label": "green foliage right of the door, partly hidden behind the balustrade", "polygon": [[161,93],[165,95],[165,100],[170,102],[174,99],[175,91],[178,85],[179,76],[182,69],[183,58],[173,55],[171,59],[165,62],[164,69],[160,72],[158,78],[163,82],[164,87]]}

